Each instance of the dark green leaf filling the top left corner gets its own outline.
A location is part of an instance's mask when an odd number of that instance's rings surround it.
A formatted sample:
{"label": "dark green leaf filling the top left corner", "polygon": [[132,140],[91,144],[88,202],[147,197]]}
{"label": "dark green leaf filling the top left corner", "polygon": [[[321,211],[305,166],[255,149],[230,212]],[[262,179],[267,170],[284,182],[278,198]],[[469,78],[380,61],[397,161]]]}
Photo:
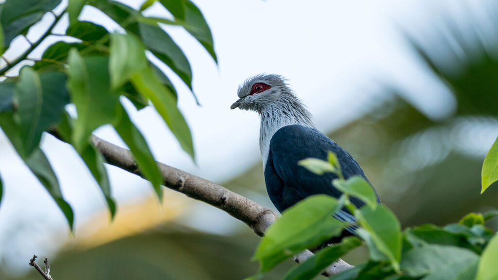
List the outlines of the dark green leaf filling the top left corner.
{"label": "dark green leaf filling the top left corner", "polygon": [[13,38],[25,35],[43,14],[54,9],[61,0],[8,0],[2,5],[0,25],[3,27],[3,46],[8,47]]}

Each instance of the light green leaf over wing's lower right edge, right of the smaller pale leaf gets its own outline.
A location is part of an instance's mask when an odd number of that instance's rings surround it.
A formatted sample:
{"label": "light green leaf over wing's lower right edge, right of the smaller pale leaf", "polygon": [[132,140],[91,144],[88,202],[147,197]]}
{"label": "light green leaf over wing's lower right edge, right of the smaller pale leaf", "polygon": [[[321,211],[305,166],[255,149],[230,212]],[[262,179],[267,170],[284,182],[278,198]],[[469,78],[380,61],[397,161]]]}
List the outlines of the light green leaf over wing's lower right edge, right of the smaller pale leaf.
{"label": "light green leaf over wing's lower right edge, right of the smaller pale leaf", "polygon": [[372,186],[360,176],[353,176],[348,180],[335,179],[332,184],[343,193],[363,200],[371,208],[375,208],[378,205],[377,196]]}

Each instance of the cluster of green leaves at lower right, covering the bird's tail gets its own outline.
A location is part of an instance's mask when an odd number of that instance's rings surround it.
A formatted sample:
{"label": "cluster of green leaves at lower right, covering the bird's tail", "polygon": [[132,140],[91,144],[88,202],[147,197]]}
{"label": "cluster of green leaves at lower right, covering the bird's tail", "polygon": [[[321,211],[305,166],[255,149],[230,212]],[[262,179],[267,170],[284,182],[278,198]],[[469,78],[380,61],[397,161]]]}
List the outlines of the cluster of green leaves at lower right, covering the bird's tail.
{"label": "cluster of green leaves at lower right, covering the bird's tail", "polygon": [[[340,166],[334,156],[329,161],[308,158],[299,162],[316,174],[335,172]],[[282,213],[262,238],[253,259],[259,261],[260,279],[283,260],[305,249],[317,248],[346,227],[356,227],[356,235],[339,244],[321,246],[315,255],[294,266],[283,279],[312,279],[351,250],[366,245],[367,263],[360,264],[332,280],[491,280],[498,278],[498,235],[485,222],[498,211],[470,213],[458,223],[438,227],[431,224],[401,230],[394,213],[377,204],[370,184],[362,177],[340,178],[331,182],[343,192],[340,199],[326,195],[310,196]],[[354,196],[366,204],[357,209],[349,202]],[[355,223],[332,218],[346,207]],[[318,247],[320,248],[320,247]]]}

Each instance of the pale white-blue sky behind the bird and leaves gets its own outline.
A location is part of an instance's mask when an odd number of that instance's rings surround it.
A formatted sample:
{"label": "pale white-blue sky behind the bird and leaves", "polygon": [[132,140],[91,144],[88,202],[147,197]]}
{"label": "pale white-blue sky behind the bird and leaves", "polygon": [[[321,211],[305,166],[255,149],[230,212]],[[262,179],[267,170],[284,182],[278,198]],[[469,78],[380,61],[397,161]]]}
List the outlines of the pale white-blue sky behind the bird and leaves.
{"label": "pale white-blue sky behind the bird and leaves", "polygon": [[[67,0],[63,1],[65,5]],[[134,7],[141,0],[124,1]],[[432,118],[454,110],[454,100],[445,86],[407,47],[400,26],[420,35],[431,19],[452,14],[462,26],[482,20],[480,2],[451,0],[319,1],[308,0],[195,0],[214,36],[219,64],[187,32],[167,26],[184,50],[193,70],[193,88],[202,106],[197,106],[187,87],[169,69],[179,107],[192,131],[197,166],[181,150],[158,114],[147,108],[129,110],[146,137],[157,160],[215,182],[238,175],[260,159],[259,119],[253,112],[230,110],[237,88],[251,75],[277,73],[288,78],[297,95],[308,105],[324,132],[337,128],[375,100],[378,81],[405,92],[405,97]],[[60,10],[60,7],[58,8]],[[150,14],[167,16],[158,4]],[[466,14],[472,14],[469,17]],[[81,19],[116,30],[94,8],[85,8]],[[50,23],[50,17],[45,18]],[[473,21],[471,21],[473,20]],[[479,22],[478,22],[479,23]],[[40,24],[42,30],[47,22]],[[64,26],[63,26],[64,25]],[[67,26],[58,26],[60,32]],[[489,30],[490,32],[493,30]],[[39,32],[39,31],[38,31]],[[28,36],[36,37],[36,31]],[[59,39],[59,38],[55,38]],[[22,38],[12,59],[26,47]],[[39,50],[31,57],[39,57]],[[122,142],[110,128],[97,135]],[[75,152],[66,144],[44,136],[47,153],[61,183],[63,194],[75,211],[76,228],[89,215],[105,207],[96,183]],[[45,189],[29,173],[0,133],[0,173],[4,197],[0,206],[0,264],[24,271],[30,254],[50,255],[54,236],[67,237],[67,224]],[[108,168],[118,203],[150,195],[151,187],[137,176]],[[202,227],[202,225],[200,225]],[[78,234],[78,232],[77,232]]]}

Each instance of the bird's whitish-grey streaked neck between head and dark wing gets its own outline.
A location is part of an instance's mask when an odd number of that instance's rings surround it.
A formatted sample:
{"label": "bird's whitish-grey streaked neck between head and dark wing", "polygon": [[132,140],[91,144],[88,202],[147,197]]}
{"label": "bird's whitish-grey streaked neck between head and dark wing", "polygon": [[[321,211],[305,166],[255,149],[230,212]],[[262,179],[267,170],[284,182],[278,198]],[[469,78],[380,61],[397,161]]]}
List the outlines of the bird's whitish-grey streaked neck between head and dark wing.
{"label": "bird's whitish-grey streaked neck between head and dark wing", "polygon": [[270,140],[281,128],[289,125],[301,125],[314,128],[310,112],[295,96],[281,104],[273,104],[262,108],[259,112],[261,127],[259,129],[259,148],[263,160],[263,168],[268,159]]}

